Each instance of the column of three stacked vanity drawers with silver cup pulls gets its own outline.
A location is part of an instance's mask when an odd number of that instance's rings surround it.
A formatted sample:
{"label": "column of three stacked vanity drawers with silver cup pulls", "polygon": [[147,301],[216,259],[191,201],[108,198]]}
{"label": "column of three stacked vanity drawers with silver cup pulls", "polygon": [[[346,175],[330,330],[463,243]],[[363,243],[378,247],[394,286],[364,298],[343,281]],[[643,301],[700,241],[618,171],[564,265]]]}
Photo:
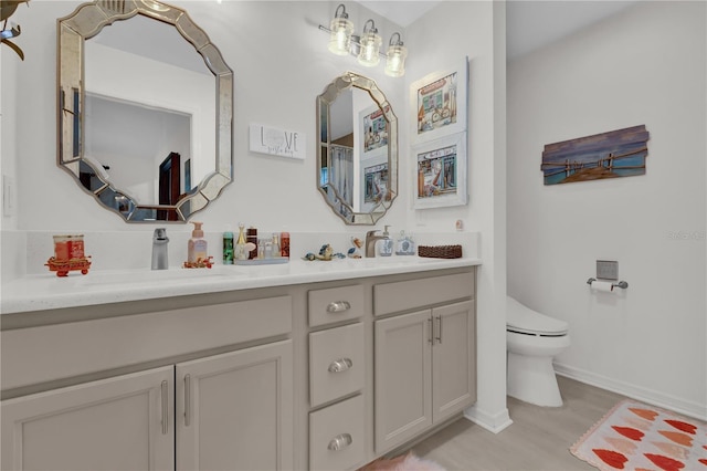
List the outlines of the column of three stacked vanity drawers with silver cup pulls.
{"label": "column of three stacked vanity drawers with silver cup pulls", "polygon": [[308,334],[310,470],[355,470],[367,461],[366,292],[355,284],[307,293],[316,328]]}

